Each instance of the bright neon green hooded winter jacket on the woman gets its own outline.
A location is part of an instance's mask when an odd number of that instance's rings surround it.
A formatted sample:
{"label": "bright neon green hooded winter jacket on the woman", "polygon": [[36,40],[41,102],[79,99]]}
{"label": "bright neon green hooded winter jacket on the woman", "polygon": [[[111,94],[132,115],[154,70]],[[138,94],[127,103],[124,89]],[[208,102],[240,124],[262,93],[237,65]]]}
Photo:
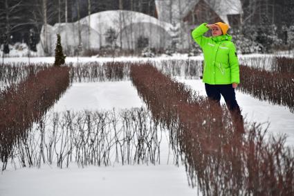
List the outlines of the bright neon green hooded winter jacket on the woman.
{"label": "bright neon green hooded winter jacket on the woman", "polygon": [[192,37],[204,54],[203,82],[207,84],[240,83],[239,62],[232,36],[205,37],[207,23],[192,31]]}

